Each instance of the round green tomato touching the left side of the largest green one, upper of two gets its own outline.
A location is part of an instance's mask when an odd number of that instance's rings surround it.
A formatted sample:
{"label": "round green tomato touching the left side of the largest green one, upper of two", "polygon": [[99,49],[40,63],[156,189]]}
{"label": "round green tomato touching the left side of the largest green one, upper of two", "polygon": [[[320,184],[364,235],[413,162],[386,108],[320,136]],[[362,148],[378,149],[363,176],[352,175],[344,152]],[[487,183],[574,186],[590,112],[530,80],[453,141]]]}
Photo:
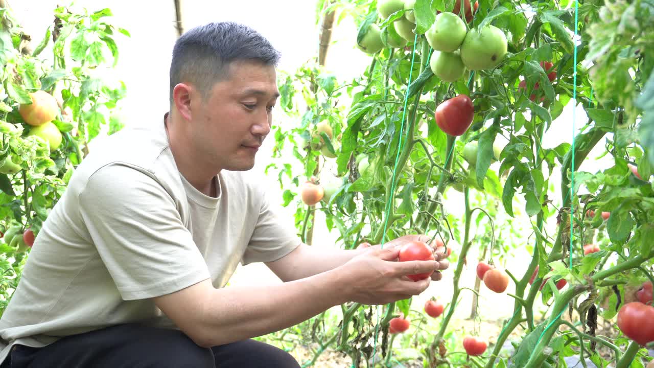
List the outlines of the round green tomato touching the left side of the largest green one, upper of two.
{"label": "round green tomato touching the left side of the largest green one, upper of two", "polygon": [[453,52],[466,39],[466,24],[453,12],[442,12],[424,36],[434,50]]}

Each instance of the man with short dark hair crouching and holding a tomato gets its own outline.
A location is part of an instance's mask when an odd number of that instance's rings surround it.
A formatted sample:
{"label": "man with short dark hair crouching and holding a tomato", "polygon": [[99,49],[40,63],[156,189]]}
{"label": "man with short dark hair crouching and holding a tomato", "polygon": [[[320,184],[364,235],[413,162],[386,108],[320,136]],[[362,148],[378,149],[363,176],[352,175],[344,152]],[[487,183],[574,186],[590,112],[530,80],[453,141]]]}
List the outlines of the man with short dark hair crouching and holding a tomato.
{"label": "man with short dark hair crouching and holding a tomato", "polygon": [[[0,320],[3,367],[298,367],[251,338],[428,287],[407,274],[439,280],[447,261],[394,262],[426,236],[309,247],[245,179],[270,131],[278,59],[238,24],[182,35],[169,113],[94,149],[44,223]],[[284,283],[224,287],[239,262]]]}

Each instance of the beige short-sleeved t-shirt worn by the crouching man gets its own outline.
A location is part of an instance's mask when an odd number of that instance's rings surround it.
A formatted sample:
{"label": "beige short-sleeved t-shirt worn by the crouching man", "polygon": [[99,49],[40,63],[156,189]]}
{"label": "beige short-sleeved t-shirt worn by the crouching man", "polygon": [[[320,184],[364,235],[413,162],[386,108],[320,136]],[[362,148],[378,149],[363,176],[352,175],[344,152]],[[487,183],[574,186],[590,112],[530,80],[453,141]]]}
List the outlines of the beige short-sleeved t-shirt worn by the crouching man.
{"label": "beige short-sleeved t-shirt worn by the crouching man", "polygon": [[216,177],[218,198],[179,173],[163,120],[125,128],[78,166],[29,253],[0,319],[0,362],[12,344],[44,346],[117,323],[175,328],[152,297],[240,262],[274,261],[300,239],[265,189],[242,172]]}

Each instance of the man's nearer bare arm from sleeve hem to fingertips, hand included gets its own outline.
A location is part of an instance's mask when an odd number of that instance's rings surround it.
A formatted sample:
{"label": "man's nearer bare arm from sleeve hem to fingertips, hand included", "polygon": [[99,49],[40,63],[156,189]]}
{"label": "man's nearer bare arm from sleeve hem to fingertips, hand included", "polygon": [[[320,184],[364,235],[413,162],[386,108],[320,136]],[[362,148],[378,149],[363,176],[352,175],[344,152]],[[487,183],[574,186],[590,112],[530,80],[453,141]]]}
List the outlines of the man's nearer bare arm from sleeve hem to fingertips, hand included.
{"label": "man's nearer bare arm from sleeve hem to fingertips, hand included", "polygon": [[216,346],[296,325],[332,306],[354,301],[386,304],[419,295],[430,280],[405,275],[438,268],[436,261],[389,262],[398,249],[374,249],[345,265],[277,285],[215,289],[209,280],[154,303],[200,346]]}

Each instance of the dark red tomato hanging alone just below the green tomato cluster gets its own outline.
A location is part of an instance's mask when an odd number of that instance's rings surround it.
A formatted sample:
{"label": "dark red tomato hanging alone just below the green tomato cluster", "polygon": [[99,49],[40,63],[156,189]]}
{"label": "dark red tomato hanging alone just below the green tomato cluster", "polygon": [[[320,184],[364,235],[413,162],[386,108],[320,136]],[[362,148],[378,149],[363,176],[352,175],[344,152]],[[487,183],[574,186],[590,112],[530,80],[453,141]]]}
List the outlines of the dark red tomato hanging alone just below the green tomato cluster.
{"label": "dark red tomato hanging alone just below the green tomato cluster", "polygon": [[450,136],[461,136],[470,128],[475,117],[475,107],[470,97],[460,94],[443,101],[436,107],[436,124]]}

